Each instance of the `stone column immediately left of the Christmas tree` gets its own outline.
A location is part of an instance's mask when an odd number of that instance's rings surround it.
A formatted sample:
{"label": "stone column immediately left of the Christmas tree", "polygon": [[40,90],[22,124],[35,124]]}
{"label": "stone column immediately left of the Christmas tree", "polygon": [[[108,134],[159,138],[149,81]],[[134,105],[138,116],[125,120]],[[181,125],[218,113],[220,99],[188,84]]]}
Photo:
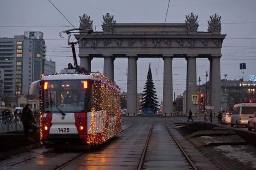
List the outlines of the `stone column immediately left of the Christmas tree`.
{"label": "stone column immediately left of the Christmas tree", "polygon": [[128,57],[127,113],[137,116],[137,57]]}

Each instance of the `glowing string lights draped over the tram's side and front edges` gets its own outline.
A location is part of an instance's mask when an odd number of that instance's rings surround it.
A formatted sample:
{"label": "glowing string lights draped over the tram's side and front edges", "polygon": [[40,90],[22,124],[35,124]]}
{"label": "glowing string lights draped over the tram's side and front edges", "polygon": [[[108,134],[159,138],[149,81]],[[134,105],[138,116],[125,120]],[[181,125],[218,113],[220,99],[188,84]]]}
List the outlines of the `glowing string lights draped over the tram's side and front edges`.
{"label": "glowing string lights draped over the tram's side and front edges", "polygon": [[[92,109],[90,127],[88,129],[87,143],[102,144],[121,132],[121,89],[109,78],[99,72],[84,73],[56,73],[41,75],[40,79],[51,76],[90,76],[92,80]],[[43,90],[40,82],[40,142],[43,143]],[[97,114],[102,113],[102,121],[96,121]],[[99,133],[99,128],[103,132]]]}

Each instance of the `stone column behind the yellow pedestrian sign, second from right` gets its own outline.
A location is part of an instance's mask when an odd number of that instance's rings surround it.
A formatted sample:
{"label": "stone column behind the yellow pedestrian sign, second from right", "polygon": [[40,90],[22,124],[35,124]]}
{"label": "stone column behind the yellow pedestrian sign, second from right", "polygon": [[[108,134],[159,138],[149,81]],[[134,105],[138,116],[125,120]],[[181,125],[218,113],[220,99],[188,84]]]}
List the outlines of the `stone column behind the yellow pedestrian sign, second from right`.
{"label": "stone column behind the yellow pedestrian sign, second from right", "polygon": [[197,112],[197,105],[192,103],[192,94],[197,93],[197,65],[196,57],[187,57],[187,94],[186,94],[186,111],[192,111],[193,115]]}

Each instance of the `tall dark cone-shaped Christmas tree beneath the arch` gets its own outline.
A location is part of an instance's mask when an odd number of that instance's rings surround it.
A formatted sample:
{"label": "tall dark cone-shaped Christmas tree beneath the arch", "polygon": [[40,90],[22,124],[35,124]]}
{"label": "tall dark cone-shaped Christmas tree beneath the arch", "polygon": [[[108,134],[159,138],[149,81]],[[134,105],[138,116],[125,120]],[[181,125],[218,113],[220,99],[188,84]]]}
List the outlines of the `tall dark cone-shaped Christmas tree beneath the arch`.
{"label": "tall dark cone-shaped Christmas tree beneath the arch", "polygon": [[151,73],[151,68],[150,68],[150,63],[149,63],[149,71],[147,73],[147,81],[146,85],[144,86],[144,91],[142,93],[142,102],[141,102],[141,109],[142,109],[142,114],[156,114],[158,110],[158,102],[156,99],[156,91],[154,87],[154,82],[152,80],[152,73]]}

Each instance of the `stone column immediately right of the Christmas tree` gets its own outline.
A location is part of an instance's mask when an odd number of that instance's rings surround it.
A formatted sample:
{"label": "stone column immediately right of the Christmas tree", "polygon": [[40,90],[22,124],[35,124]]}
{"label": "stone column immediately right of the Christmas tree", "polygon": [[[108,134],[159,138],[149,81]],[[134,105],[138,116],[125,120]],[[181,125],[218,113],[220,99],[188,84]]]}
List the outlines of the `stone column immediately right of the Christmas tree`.
{"label": "stone column immediately right of the Christmas tree", "polygon": [[172,57],[164,57],[163,116],[173,113],[173,68]]}

